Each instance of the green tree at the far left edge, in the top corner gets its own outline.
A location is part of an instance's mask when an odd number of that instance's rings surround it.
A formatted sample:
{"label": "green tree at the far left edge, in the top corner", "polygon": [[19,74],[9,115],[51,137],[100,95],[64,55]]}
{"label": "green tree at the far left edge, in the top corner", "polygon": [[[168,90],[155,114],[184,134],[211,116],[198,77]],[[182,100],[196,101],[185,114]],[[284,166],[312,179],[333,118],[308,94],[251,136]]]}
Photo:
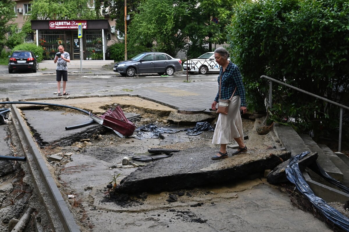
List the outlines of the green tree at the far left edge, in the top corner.
{"label": "green tree at the far left edge, in the top corner", "polygon": [[13,10],[16,2],[12,0],[1,0],[0,1],[0,9],[1,9],[1,17],[0,17],[0,51],[6,43],[5,33],[9,31],[8,22],[12,20],[16,13]]}

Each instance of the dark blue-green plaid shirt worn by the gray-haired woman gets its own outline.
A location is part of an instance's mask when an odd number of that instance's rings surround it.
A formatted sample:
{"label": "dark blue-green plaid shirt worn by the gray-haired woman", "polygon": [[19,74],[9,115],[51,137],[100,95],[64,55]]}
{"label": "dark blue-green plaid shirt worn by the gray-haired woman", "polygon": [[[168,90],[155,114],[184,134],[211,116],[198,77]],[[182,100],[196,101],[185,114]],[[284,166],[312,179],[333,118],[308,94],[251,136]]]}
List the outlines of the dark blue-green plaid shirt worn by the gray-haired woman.
{"label": "dark blue-green plaid shirt worn by the gray-haired woman", "polygon": [[239,95],[241,100],[240,106],[246,107],[246,96],[245,96],[245,87],[242,83],[242,76],[240,70],[236,64],[229,62],[227,68],[223,72],[223,68],[219,72],[218,76],[218,93],[215,98],[215,101],[218,102],[219,98],[219,82],[220,76],[222,75],[222,87],[221,87],[221,99],[229,99],[233,94],[235,87],[237,87],[234,96]]}

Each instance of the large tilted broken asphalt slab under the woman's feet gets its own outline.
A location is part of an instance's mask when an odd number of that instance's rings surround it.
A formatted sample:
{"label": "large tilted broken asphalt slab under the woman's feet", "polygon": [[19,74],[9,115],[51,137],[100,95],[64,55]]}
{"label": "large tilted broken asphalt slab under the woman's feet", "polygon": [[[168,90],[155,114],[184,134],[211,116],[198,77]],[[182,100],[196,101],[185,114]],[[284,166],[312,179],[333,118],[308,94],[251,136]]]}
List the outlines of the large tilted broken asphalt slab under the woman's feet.
{"label": "large tilted broken asphalt slab under the woman's feet", "polygon": [[[265,169],[274,169],[288,160],[291,153],[249,149],[248,152],[223,160],[211,160],[217,150],[209,147],[190,148],[171,157],[138,168],[121,180],[116,193],[162,192],[201,186],[227,184],[250,176],[263,176]],[[228,154],[231,151],[228,150]],[[278,156],[278,157],[276,157]]]}

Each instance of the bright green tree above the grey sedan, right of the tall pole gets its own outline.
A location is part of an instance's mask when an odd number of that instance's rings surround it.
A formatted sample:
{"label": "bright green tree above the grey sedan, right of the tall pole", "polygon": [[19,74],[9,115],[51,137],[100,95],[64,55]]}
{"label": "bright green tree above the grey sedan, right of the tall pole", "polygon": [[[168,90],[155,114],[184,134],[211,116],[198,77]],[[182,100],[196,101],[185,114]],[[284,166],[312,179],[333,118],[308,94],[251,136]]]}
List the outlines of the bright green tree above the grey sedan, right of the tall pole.
{"label": "bright green tree above the grey sedan, right of the tall pole", "polygon": [[180,0],[147,0],[140,3],[140,13],[129,26],[131,44],[154,44],[157,51],[176,56],[185,45],[181,29],[190,14],[189,3]]}

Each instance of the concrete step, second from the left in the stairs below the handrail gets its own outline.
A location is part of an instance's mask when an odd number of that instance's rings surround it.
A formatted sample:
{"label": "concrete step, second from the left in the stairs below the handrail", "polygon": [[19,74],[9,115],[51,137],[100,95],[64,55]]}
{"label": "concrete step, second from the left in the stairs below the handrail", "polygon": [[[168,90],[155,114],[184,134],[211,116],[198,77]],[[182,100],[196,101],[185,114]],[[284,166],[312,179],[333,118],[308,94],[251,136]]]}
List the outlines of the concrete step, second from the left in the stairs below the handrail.
{"label": "concrete step, second from the left in the stairs below the handrail", "polygon": [[[311,152],[318,153],[318,163],[321,168],[324,169],[328,175],[332,176],[334,179],[343,182],[344,175],[343,172],[339,169],[348,169],[348,166],[338,157],[336,156],[331,149],[329,149],[326,145],[318,145],[309,135],[300,134],[300,138],[304,141],[304,144],[309,147]],[[339,166],[337,166],[337,165]]]}

